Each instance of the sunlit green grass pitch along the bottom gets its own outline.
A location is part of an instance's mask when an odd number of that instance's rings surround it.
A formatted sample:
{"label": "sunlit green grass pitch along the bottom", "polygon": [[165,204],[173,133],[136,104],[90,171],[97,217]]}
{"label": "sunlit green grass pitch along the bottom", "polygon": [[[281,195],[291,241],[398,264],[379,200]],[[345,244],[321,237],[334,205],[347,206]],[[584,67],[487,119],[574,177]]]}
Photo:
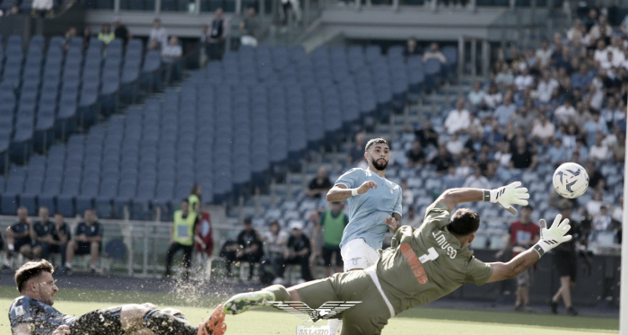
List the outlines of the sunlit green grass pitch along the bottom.
{"label": "sunlit green grass pitch along the bottom", "polygon": [[[0,287],[0,334],[10,334],[8,308],[17,292],[13,287]],[[222,297],[223,298],[223,297]],[[80,315],[93,309],[117,304],[151,302],[159,306],[178,307],[190,322],[196,323],[211,313],[222,298],[191,295],[189,292],[170,294],[103,292],[62,289],[55,307],[62,313]],[[274,334],[296,332],[301,319],[272,308],[252,310],[241,315],[227,316],[228,335]],[[618,319],[570,317],[534,313],[502,313],[488,311],[415,308],[397,315],[388,322],[383,334],[395,335],[595,335],[616,334]]]}

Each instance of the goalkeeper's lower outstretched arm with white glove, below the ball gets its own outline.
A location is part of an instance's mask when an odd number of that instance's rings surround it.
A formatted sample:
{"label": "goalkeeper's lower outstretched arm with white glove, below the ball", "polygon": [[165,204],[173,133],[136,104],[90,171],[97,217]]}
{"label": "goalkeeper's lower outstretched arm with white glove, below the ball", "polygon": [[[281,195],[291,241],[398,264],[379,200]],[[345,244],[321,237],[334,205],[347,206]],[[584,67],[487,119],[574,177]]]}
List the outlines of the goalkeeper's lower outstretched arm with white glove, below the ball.
{"label": "goalkeeper's lower outstretched arm with white glove, below the ball", "polygon": [[571,235],[565,235],[571,228],[569,219],[561,221],[562,219],[563,216],[560,214],[556,216],[554,223],[549,229],[547,229],[545,220],[541,219],[539,221],[541,225],[541,239],[532,248],[519,253],[517,257],[508,263],[490,263],[493,266],[493,276],[486,282],[492,283],[493,281],[516,278],[521,272],[536,263],[546,251],[554,249],[563,242],[570,241]]}

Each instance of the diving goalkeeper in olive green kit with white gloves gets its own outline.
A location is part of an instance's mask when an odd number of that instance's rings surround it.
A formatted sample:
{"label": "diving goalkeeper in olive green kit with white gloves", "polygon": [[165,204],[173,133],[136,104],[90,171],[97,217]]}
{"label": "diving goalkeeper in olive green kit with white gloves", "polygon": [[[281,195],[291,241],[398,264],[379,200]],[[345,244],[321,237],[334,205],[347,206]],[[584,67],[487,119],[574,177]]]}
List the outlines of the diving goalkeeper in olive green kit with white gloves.
{"label": "diving goalkeeper in olive green kit with white gloves", "polygon": [[480,216],[467,208],[450,211],[468,201],[491,201],[517,211],[511,205],[526,206],[528,190],[519,181],[496,190],[452,189],[427,207],[419,229],[403,225],[392,246],[379,251],[375,266],[339,273],[286,289],[274,285],[257,292],[234,295],[224,312],[238,314],[251,306],[273,301],[301,301],[318,308],[328,301],[361,301],[342,314],[343,335],[379,334],[388,319],[409,308],[426,304],[456,290],[465,283],[483,285],[517,277],[536,263],[546,251],[571,240],[569,220],[556,216],[547,229],[541,220],[541,239],[528,251],[508,263],[484,263],[468,249],[480,225]]}

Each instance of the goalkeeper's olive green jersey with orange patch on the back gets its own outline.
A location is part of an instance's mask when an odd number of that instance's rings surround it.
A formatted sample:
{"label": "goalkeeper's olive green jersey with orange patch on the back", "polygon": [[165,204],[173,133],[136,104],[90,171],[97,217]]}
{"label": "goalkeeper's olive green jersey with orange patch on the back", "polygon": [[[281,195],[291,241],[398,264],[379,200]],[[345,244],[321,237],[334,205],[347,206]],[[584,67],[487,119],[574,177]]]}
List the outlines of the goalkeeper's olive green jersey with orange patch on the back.
{"label": "goalkeeper's olive green jersey with orange patch on the back", "polygon": [[395,313],[439,299],[466,283],[483,285],[493,267],[475,259],[450,234],[449,207],[435,202],[425,211],[423,225],[403,225],[390,248],[379,251],[377,275]]}

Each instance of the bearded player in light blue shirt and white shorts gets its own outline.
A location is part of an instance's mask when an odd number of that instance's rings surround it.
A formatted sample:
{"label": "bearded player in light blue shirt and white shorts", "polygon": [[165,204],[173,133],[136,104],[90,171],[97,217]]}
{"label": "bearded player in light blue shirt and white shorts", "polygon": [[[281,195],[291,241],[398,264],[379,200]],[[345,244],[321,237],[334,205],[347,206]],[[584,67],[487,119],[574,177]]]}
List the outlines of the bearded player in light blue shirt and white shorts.
{"label": "bearded player in light blue shirt and white shorts", "polygon": [[[367,269],[379,259],[384,234],[401,226],[401,187],[385,178],[390,147],[384,138],[371,139],[364,149],[369,167],[345,172],[327,192],[327,201],[347,200],[349,224],[340,242],[345,271]],[[330,334],[341,321],[329,320]]]}

